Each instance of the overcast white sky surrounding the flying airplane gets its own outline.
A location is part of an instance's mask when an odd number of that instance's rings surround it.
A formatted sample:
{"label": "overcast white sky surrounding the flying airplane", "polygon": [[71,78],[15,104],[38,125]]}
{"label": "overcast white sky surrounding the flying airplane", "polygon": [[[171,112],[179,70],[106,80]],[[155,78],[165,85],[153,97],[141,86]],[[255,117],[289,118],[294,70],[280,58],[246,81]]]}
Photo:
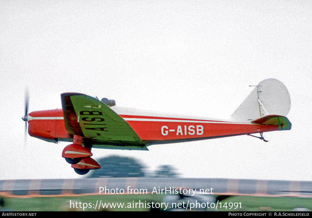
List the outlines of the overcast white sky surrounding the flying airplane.
{"label": "overcast white sky surrounding the flying airplane", "polygon": [[116,104],[227,117],[266,78],[291,97],[289,131],[263,142],[236,136],[92,149],[169,164],[181,177],[312,180],[311,1],[1,1],[0,179],[81,178],[61,157],[69,143],[28,135],[29,111],[61,108],[81,92]]}

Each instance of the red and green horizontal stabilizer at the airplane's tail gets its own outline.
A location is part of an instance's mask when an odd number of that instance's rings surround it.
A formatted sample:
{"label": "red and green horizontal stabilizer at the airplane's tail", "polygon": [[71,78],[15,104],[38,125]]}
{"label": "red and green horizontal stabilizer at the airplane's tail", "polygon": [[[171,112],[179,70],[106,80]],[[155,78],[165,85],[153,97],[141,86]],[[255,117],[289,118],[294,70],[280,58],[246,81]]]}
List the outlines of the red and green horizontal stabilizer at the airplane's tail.
{"label": "red and green horizontal stabilizer at the airplane's tail", "polygon": [[279,130],[290,130],[291,123],[285,116],[268,115],[251,121],[252,123],[261,125],[277,125]]}

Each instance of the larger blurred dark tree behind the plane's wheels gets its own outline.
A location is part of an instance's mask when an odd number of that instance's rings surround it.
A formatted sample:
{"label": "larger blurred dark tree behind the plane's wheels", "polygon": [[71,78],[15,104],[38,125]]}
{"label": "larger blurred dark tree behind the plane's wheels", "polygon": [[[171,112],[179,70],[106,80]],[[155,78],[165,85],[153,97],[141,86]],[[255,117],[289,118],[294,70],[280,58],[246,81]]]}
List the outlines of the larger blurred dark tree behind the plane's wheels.
{"label": "larger blurred dark tree behind the plane's wheels", "polygon": [[109,156],[97,160],[100,169],[91,170],[89,178],[97,177],[144,177],[145,168],[138,160],[128,157]]}

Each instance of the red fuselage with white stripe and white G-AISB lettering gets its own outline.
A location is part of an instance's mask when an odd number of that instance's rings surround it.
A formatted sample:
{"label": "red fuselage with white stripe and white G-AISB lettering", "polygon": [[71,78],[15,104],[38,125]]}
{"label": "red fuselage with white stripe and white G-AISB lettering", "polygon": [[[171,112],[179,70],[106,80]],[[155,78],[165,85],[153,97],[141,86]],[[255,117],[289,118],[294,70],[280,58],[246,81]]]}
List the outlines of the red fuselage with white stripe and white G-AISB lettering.
{"label": "red fuselage with white stripe and white G-AISB lettering", "polygon": [[[111,109],[131,126],[145,145],[212,139],[278,130],[276,125],[260,125],[231,120],[155,113],[153,111],[140,111],[118,106],[111,107]],[[51,142],[72,141],[73,135],[69,134],[65,129],[62,109],[33,111],[28,116],[29,135]]]}

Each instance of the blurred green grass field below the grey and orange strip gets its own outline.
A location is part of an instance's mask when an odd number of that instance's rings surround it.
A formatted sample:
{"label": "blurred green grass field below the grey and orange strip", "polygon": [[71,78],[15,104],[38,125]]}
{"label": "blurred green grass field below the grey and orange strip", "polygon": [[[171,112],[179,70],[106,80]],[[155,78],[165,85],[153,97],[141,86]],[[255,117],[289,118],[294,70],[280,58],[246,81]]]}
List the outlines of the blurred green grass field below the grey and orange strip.
{"label": "blurred green grass field below the grey and orange strip", "polygon": [[[3,199],[4,209],[10,211],[149,211],[148,205],[151,205],[151,202],[154,204],[156,202],[161,203],[164,196],[161,194],[144,194]],[[221,202],[222,206],[228,207],[218,208],[217,211],[292,211],[295,207],[305,207],[312,210],[312,198],[232,196]],[[231,202],[241,203],[241,208],[234,210],[233,207],[230,209],[229,203]],[[114,206],[103,208],[104,203],[118,203],[119,206],[123,204],[123,208],[118,208],[117,205],[115,208]]]}

